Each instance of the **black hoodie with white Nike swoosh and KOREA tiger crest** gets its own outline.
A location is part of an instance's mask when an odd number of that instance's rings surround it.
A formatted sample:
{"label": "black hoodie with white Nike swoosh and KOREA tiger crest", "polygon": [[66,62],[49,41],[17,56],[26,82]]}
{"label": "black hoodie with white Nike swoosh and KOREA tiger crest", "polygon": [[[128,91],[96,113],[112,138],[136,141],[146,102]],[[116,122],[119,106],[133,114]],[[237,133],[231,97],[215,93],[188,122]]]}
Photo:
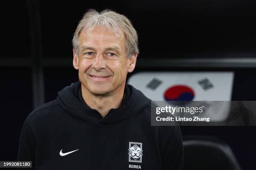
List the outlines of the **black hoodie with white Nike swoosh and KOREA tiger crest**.
{"label": "black hoodie with white Nike swoosh and KOREA tiger crest", "polygon": [[[178,126],[151,126],[151,100],[125,84],[125,98],[102,118],[78,81],[28,115],[18,161],[29,170],[181,170]],[[24,170],[24,168],[21,168]]]}

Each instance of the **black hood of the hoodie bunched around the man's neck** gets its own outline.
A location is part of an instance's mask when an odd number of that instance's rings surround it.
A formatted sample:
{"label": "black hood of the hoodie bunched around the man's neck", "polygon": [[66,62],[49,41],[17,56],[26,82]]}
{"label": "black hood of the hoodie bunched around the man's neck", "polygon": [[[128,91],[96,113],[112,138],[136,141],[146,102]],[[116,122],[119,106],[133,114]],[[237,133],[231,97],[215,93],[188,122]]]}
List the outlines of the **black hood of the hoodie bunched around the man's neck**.
{"label": "black hood of the hoodie bunched around the man's neck", "polygon": [[111,124],[137,114],[151,103],[150,99],[132,85],[125,84],[124,92],[125,98],[121,106],[116,109],[110,109],[104,118],[102,118],[97,110],[90,108],[84,100],[79,97],[79,95],[82,96],[80,81],[72,83],[70,86],[58,92],[57,101],[64,110],[67,110],[71,115],[86,123]]}

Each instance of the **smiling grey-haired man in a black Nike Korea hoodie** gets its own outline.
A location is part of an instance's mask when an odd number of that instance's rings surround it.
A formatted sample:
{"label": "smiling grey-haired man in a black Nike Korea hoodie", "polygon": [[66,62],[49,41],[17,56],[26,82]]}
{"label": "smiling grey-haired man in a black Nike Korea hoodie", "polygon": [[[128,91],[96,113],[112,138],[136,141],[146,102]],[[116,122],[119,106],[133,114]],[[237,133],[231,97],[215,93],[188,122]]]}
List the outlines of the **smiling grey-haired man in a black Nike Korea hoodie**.
{"label": "smiling grey-haired man in a black Nike Korea hoodie", "polygon": [[74,33],[79,81],[28,115],[18,160],[37,170],[181,170],[178,126],[151,126],[151,100],[125,84],[138,37],[124,15],[89,10]]}

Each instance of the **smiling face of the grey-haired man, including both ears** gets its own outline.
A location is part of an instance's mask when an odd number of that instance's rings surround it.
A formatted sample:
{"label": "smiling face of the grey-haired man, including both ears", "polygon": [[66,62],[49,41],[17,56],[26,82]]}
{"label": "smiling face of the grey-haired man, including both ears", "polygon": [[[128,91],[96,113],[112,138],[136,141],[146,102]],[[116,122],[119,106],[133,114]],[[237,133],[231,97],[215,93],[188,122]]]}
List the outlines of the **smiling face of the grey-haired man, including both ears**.
{"label": "smiling face of the grey-haired man, including both ears", "polygon": [[127,73],[135,67],[136,57],[135,54],[127,58],[123,32],[116,35],[97,28],[80,33],[79,56],[74,52],[73,65],[87,90],[104,95],[123,87]]}

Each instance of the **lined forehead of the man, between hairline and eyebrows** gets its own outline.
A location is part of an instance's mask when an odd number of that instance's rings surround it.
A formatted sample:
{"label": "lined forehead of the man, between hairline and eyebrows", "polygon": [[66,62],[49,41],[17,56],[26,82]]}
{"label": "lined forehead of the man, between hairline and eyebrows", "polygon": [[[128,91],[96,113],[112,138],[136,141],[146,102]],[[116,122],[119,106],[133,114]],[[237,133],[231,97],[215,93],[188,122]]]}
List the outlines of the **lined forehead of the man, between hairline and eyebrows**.
{"label": "lined forehead of the man, between hairline and eyebrows", "polygon": [[82,30],[79,36],[79,46],[81,45],[125,45],[125,36],[121,30],[118,32],[106,28],[95,28],[93,30]]}

